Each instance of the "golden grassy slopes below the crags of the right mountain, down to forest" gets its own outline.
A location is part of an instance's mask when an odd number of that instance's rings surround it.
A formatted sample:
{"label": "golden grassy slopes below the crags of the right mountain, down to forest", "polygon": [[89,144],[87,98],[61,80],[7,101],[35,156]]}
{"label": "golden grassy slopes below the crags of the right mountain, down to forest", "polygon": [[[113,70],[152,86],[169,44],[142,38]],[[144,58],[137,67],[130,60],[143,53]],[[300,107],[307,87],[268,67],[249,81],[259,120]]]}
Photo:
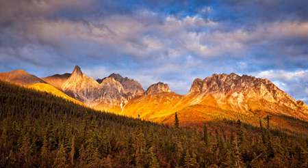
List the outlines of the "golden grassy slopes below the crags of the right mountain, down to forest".
{"label": "golden grassy slopes below the crags of the right mountain, down to forest", "polygon": [[[253,103],[250,101],[249,103],[252,103],[250,106],[253,107],[252,109],[240,111],[233,108],[233,104],[218,102],[211,95],[188,94],[180,96],[175,93],[162,93],[133,98],[120,114],[130,117],[140,115],[143,120],[173,124],[175,112],[177,112],[182,126],[224,119],[241,120],[247,124],[259,126],[259,118],[263,119],[266,115],[270,115],[273,128],[283,128],[303,133],[308,131],[308,122],[304,120],[307,115],[305,117],[298,116],[301,119],[298,120],[291,117],[294,111],[287,109],[287,107],[266,104],[266,102]],[[265,120],[262,121],[265,125]]]}

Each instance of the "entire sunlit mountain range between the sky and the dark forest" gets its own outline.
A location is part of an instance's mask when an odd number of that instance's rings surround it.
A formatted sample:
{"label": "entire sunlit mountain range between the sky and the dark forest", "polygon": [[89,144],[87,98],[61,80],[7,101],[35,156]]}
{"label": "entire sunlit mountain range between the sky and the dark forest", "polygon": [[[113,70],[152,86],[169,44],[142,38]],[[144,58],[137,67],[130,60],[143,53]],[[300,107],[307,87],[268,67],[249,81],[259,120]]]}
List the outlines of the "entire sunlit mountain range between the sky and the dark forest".
{"label": "entire sunlit mountain range between the sky and the dark forest", "polygon": [[241,120],[258,125],[267,115],[276,128],[307,132],[308,106],[268,79],[213,74],[195,79],[190,92],[179,95],[158,82],[144,90],[138,81],[110,74],[92,79],[79,66],[72,73],[39,78],[24,70],[0,73],[0,80],[49,92],[87,107],[142,120],[171,124],[177,112],[181,125],[211,120]]}

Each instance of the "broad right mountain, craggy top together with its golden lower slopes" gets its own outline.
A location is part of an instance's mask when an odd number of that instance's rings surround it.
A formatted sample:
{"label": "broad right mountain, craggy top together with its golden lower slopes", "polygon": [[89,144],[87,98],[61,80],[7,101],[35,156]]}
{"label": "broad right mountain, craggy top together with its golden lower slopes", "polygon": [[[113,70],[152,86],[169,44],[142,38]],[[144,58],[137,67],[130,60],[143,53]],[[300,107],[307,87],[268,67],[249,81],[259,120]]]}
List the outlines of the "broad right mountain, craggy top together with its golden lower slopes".
{"label": "broad right mountain, craggy top together with its golden lower slopes", "polygon": [[126,104],[122,114],[172,124],[175,112],[183,125],[227,119],[257,126],[259,119],[264,122],[264,117],[270,115],[276,128],[308,130],[305,103],[294,100],[266,79],[237,74],[196,79],[184,96],[167,89],[135,98]]}

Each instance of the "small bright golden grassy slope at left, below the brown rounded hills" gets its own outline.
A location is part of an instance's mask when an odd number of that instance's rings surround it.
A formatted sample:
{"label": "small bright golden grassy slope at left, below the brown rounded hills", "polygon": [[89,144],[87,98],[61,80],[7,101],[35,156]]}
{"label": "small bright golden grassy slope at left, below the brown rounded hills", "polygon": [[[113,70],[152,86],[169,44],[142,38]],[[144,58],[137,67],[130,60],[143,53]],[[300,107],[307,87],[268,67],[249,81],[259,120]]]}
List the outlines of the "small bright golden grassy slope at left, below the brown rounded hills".
{"label": "small bright golden grassy slope at left, below the brown rounded hills", "polygon": [[75,98],[71,98],[67,94],[64,94],[62,91],[59,89],[53,87],[52,85],[49,85],[47,83],[35,83],[33,85],[30,85],[29,88],[38,90],[40,92],[47,92],[49,94],[53,94],[55,96],[58,96],[60,98],[64,98],[66,100],[69,100],[71,102],[74,102],[76,104],[81,104],[83,105],[83,102],[80,102],[79,100],[76,100]]}

